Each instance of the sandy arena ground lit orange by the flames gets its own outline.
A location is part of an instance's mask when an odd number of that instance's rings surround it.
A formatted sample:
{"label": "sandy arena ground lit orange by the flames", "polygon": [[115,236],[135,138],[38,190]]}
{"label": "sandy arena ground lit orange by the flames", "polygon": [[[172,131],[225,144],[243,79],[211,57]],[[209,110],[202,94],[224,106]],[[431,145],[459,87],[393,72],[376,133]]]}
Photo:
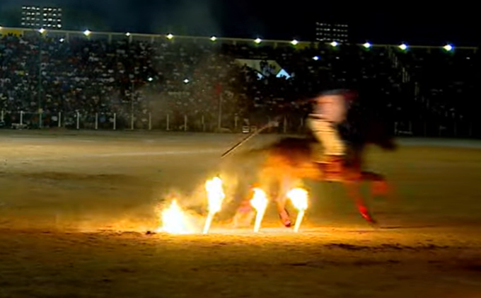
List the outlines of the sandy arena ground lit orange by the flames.
{"label": "sandy arena ground lit orange by the flames", "polygon": [[252,165],[219,156],[240,137],[0,132],[0,297],[481,297],[477,142],[370,151],[396,190],[369,201],[381,229],[340,185],[307,183],[299,234],[274,210],[260,234],[230,228],[226,207],[212,234],[147,235],[166,197],[200,212],[216,173],[229,197]]}

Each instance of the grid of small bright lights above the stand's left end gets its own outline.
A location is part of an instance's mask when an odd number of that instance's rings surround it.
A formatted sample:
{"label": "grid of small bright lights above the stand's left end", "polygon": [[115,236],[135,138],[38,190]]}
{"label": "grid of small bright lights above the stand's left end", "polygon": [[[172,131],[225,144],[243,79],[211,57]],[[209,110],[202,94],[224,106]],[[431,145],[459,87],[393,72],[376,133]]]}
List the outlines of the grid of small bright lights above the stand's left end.
{"label": "grid of small bright lights above the stand's left end", "polygon": [[22,27],[62,29],[62,8],[22,6]]}

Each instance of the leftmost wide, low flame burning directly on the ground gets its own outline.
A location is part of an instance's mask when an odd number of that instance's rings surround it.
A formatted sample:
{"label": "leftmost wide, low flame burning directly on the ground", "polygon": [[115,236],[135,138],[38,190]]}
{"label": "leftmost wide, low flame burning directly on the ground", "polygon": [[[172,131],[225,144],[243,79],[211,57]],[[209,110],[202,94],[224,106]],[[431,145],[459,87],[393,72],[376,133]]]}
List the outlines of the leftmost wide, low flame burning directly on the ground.
{"label": "leftmost wide, low flame burning directly on the ground", "polygon": [[162,211],[162,227],[158,231],[169,234],[192,234],[192,224],[177,200],[173,200],[170,206]]}

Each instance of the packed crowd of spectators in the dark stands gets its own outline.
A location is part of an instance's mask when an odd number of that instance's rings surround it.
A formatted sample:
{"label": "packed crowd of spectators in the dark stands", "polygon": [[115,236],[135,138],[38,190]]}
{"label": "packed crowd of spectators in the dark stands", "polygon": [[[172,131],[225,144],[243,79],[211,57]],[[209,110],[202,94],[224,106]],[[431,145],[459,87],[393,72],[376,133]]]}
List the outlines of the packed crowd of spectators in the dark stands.
{"label": "packed crowd of spectators in the dark stands", "polygon": [[475,50],[442,47],[1,35],[0,110],[31,127],[214,130],[283,115],[296,129],[309,107],[294,102],[354,88],[402,125],[453,132],[476,123],[477,64]]}

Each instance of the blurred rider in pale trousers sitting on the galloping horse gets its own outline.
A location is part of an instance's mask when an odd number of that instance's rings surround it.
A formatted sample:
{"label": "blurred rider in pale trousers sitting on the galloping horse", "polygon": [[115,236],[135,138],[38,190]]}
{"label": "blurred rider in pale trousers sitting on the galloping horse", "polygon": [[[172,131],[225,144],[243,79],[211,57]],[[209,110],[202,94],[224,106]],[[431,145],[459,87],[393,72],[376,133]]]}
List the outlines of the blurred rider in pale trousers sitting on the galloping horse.
{"label": "blurred rider in pale trousers sitting on the galloping horse", "polygon": [[354,98],[346,90],[333,90],[313,99],[313,110],[308,116],[308,127],[323,148],[315,149],[313,161],[320,164],[328,176],[338,176],[342,172],[346,147],[337,126],[346,120],[347,110]]}

